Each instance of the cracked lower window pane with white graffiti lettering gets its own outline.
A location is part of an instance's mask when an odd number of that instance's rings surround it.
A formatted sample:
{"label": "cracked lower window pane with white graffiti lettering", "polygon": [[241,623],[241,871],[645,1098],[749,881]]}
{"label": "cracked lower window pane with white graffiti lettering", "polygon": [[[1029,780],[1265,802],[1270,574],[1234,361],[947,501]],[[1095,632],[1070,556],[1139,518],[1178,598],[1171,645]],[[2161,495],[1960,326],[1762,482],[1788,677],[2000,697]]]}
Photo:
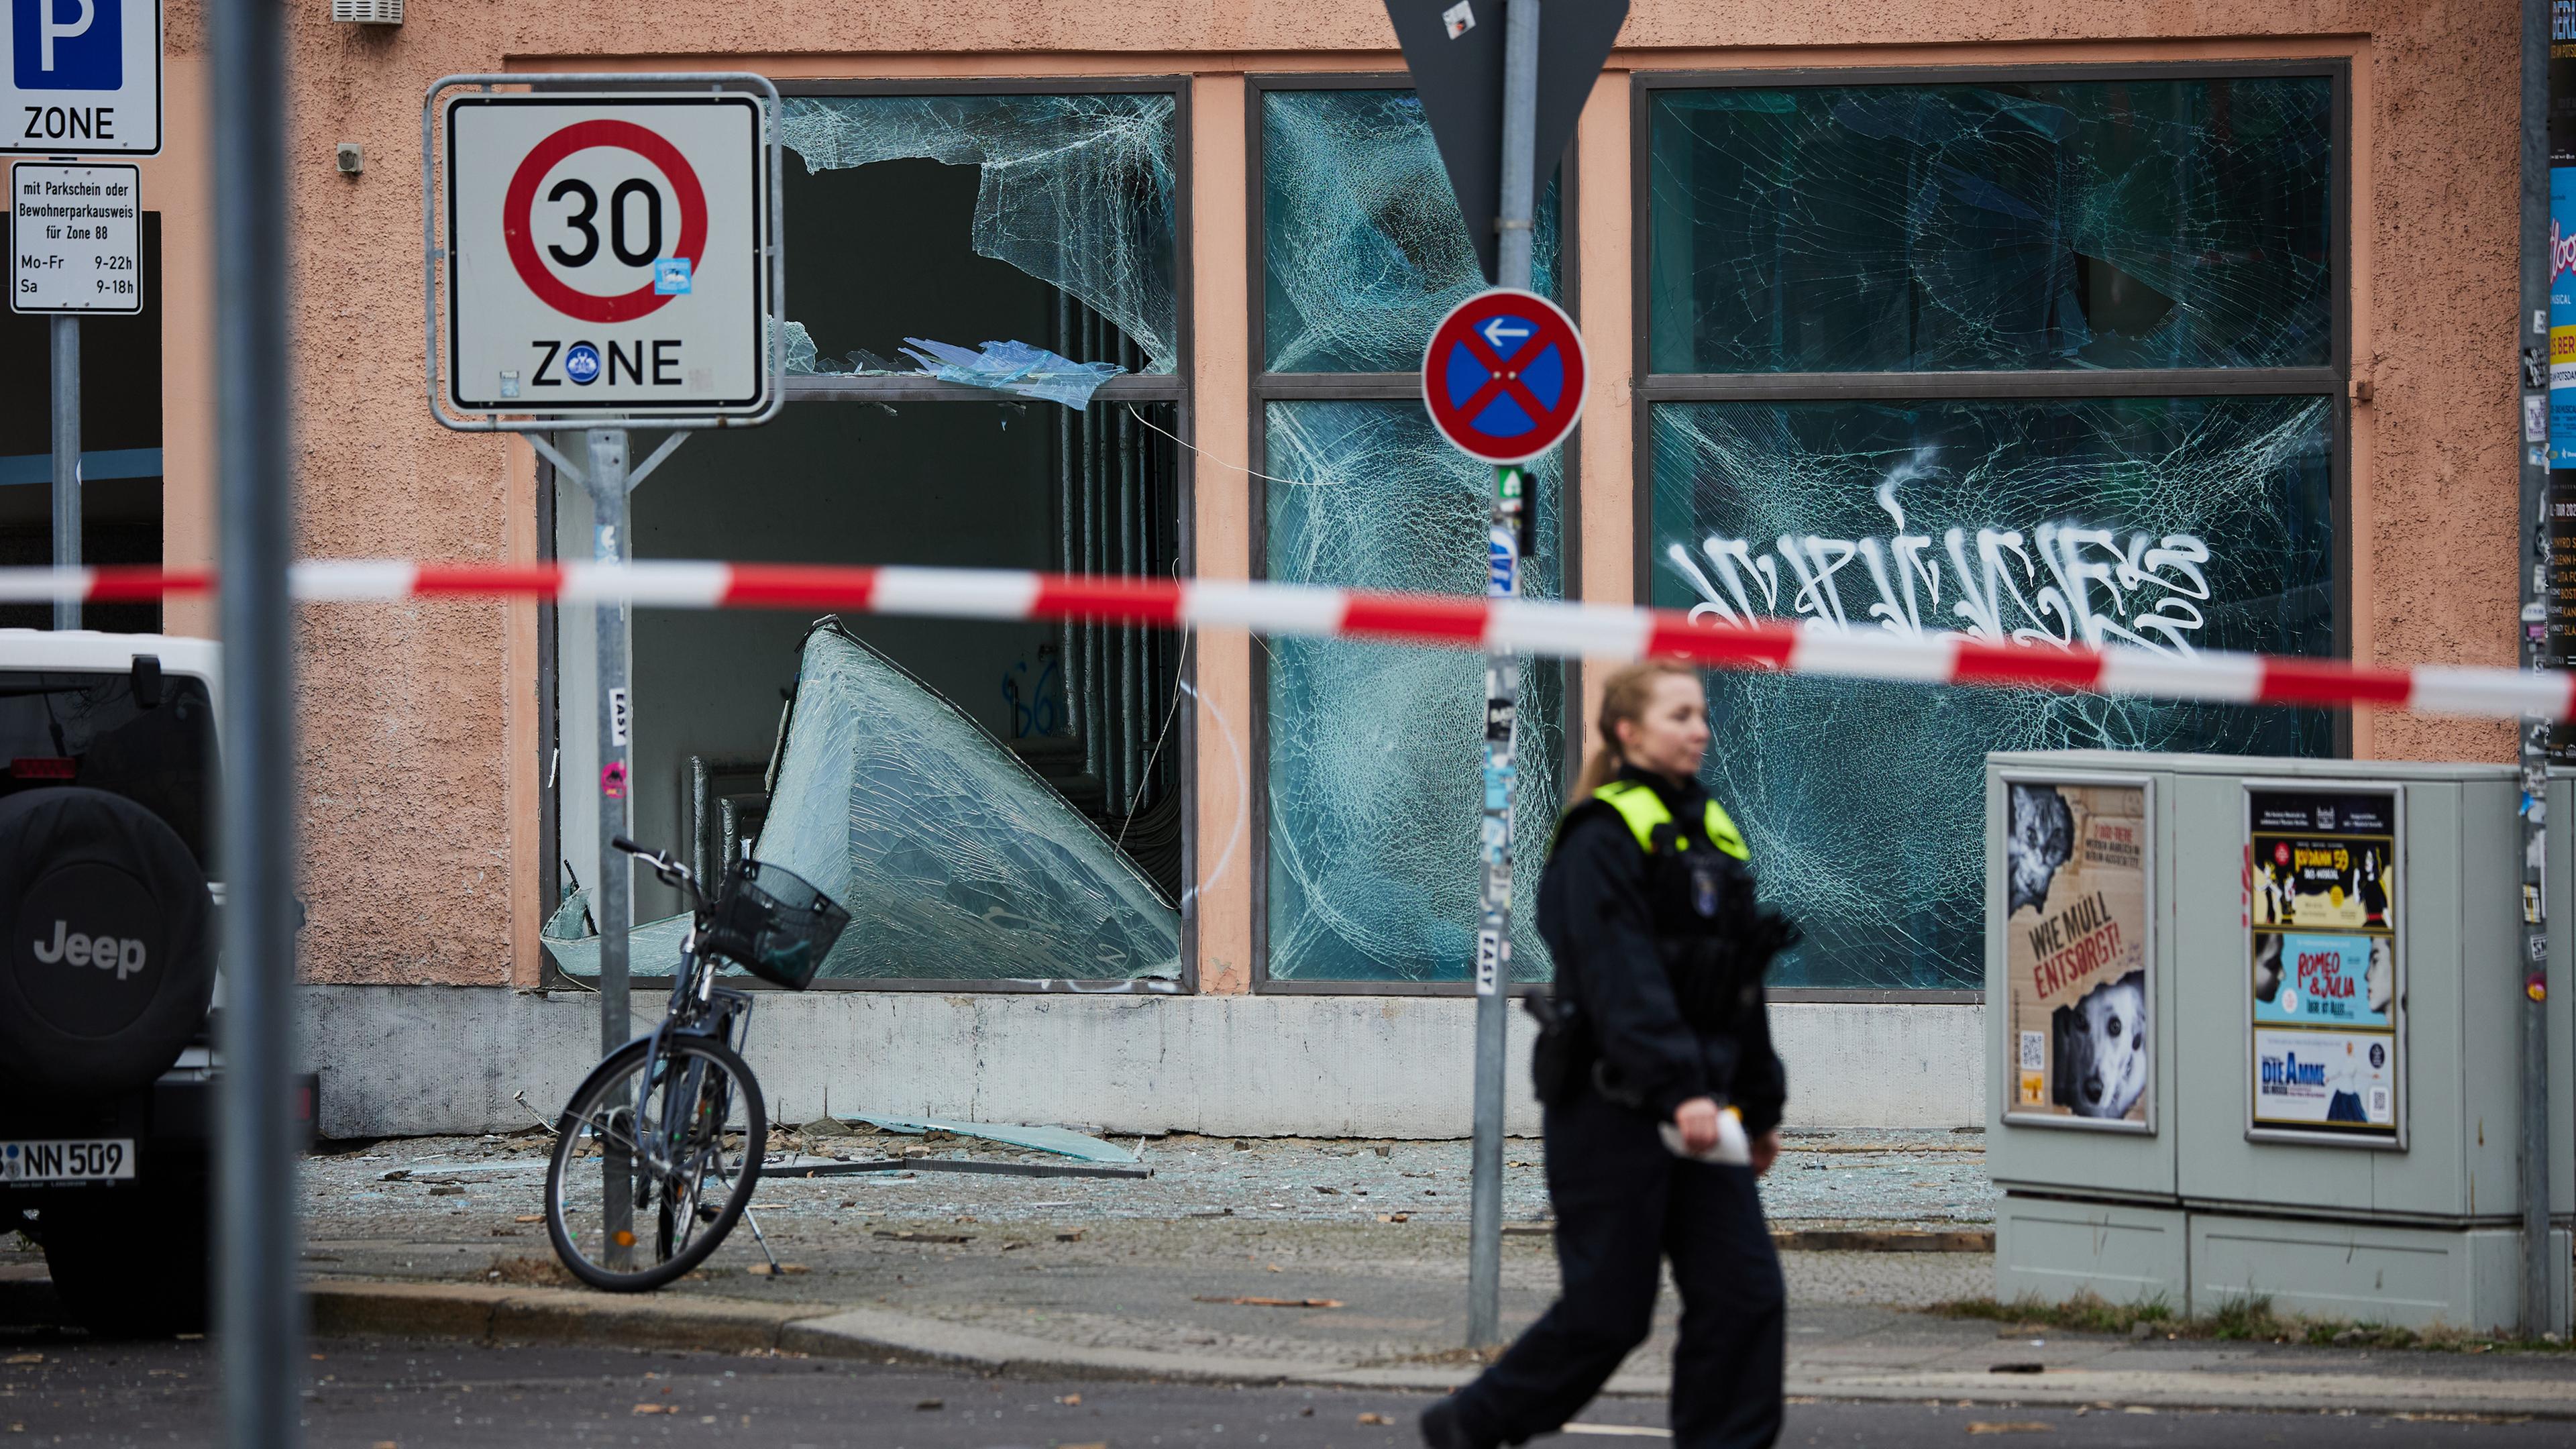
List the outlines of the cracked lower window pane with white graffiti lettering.
{"label": "cracked lower window pane with white graffiti lettering", "polygon": [[[1669,402],[1654,603],[1700,619],[2331,655],[2329,397]],[[1984,980],[1986,750],[2331,753],[2316,709],[1710,673],[1710,792],[1803,987]]]}

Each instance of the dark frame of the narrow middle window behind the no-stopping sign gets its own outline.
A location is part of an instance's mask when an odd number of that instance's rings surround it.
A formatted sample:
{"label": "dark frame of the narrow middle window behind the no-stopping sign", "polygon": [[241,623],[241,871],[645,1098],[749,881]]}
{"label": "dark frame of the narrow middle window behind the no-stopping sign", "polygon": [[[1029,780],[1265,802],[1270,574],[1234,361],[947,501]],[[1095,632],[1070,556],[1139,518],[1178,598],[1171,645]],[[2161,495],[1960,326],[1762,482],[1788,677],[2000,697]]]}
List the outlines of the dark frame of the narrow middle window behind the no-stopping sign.
{"label": "dark frame of the narrow middle window behind the no-stopping sign", "polygon": [[[1265,170],[1262,170],[1262,95],[1273,90],[1412,90],[1414,77],[1404,70],[1365,70],[1365,72],[1255,72],[1244,75],[1244,307],[1247,307],[1247,400],[1249,400],[1249,477],[1247,482],[1247,578],[1270,578],[1270,405],[1273,402],[1419,402],[1422,400],[1422,374],[1419,371],[1270,371],[1270,335],[1267,335],[1267,307],[1270,307],[1270,237],[1265,232]],[[1579,250],[1579,183],[1577,152],[1582,147],[1574,137],[1566,139],[1566,152],[1558,157],[1556,173],[1556,258],[1558,258],[1558,289],[1556,302],[1569,317],[1582,325],[1582,250]],[[1546,180],[1538,183],[1538,193],[1546,193]],[[1561,567],[1558,590],[1564,598],[1582,598],[1582,505],[1579,505],[1579,472],[1582,472],[1582,436],[1584,425],[1577,423],[1574,433],[1558,449],[1564,482],[1558,485],[1558,521],[1556,539]],[[1571,665],[1571,660],[1569,660]],[[1582,688],[1579,676],[1566,670],[1566,761],[1564,779],[1571,781],[1582,773]],[[1270,975],[1270,668],[1260,645],[1252,652],[1252,743],[1247,748],[1247,776],[1249,776],[1249,820],[1247,830],[1252,848],[1247,853],[1252,871],[1252,993],[1255,995],[1473,995],[1476,982],[1471,975],[1461,975],[1455,982],[1363,982],[1363,980],[1278,980]],[[1461,768],[1471,768],[1461,761]],[[1525,822],[1515,820],[1515,851],[1525,848],[1530,830]],[[1515,915],[1525,915],[1538,908],[1535,900],[1515,900]],[[1468,962],[1461,962],[1461,972]],[[1546,982],[1507,982],[1507,995],[1530,995],[1546,990]]]}

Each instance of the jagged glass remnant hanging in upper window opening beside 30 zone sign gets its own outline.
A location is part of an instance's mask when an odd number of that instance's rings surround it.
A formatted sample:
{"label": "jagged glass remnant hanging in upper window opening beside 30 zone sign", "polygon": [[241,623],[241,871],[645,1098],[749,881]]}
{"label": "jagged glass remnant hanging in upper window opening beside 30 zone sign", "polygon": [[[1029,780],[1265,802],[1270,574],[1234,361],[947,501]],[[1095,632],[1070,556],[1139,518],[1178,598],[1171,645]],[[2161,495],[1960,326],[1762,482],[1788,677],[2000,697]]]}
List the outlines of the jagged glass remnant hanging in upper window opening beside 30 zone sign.
{"label": "jagged glass remnant hanging in upper window opening beside 30 zone sign", "polygon": [[[981,168],[974,250],[1064,289],[1144,348],[1146,371],[1172,371],[1172,95],[788,95],[781,134],[809,173]],[[804,366],[840,369],[814,356]]]}

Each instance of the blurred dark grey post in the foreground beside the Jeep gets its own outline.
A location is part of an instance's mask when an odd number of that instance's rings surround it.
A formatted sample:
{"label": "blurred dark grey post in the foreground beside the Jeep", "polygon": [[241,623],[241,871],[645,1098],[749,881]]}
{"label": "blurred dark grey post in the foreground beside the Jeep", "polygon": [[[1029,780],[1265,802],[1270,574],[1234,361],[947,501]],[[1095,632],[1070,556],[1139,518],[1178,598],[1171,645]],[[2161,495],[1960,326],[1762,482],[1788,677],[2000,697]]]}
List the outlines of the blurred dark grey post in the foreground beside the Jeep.
{"label": "blurred dark grey post in the foreground beside the Jeep", "polygon": [[296,1387],[294,652],[286,601],[286,8],[206,5],[214,155],[216,531],[224,593],[224,1016],[216,1336],[224,1444],[304,1441]]}

